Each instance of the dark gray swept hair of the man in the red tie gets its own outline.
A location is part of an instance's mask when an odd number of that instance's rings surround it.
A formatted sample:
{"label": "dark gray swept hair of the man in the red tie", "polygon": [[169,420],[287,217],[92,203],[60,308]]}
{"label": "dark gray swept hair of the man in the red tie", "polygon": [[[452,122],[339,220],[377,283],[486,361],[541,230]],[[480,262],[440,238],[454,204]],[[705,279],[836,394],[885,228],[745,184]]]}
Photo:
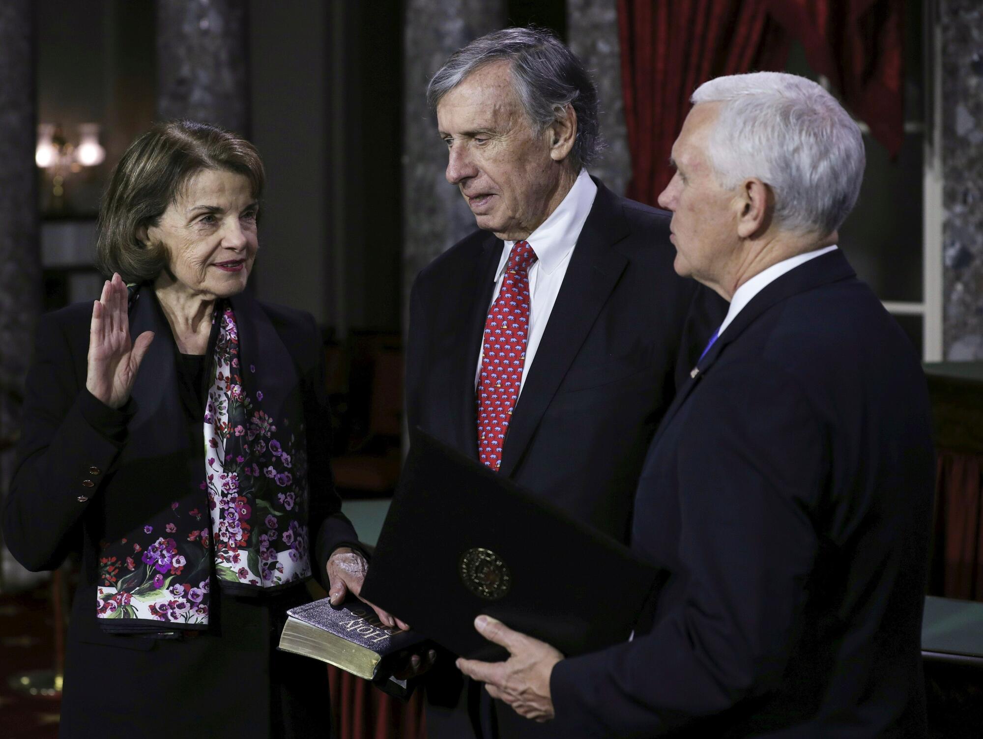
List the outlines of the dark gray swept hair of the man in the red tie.
{"label": "dark gray swept hair of the man in the red tie", "polygon": [[458,49],[427,85],[432,108],[481,67],[507,61],[512,87],[537,134],[563,120],[566,106],[577,115],[577,138],[569,160],[574,171],[590,166],[604,147],[598,123],[598,90],[583,63],[543,28],[502,28]]}

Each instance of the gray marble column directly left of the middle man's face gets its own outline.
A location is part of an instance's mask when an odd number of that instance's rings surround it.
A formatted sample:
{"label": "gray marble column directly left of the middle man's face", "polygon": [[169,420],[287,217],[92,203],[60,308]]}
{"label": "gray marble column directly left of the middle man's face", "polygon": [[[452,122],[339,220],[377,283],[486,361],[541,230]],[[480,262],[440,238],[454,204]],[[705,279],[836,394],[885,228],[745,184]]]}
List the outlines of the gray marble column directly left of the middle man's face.
{"label": "gray marble column directly left of the middle man's face", "polygon": [[475,229],[443,177],[447,152],[427,106],[427,83],[464,44],[506,23],[505,0],[407,0],[403,91],[403,316],[410,286],[434,256]]}

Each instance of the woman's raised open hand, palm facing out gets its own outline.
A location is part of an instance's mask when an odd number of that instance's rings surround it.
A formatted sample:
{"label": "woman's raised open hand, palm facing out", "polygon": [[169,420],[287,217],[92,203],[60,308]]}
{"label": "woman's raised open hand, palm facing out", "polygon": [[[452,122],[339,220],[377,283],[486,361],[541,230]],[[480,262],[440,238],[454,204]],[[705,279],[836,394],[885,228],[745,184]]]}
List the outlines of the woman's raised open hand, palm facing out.
{"label": "woman's raised open hand, palm facing out", "polygon": [[102,296],[92,304],[88,329],[86,388],[110,408],[120,408],[130,398],[137,370],[153,340],[145,331],[130,342],[130,316],[126,285],[119,274],[106,280]]}

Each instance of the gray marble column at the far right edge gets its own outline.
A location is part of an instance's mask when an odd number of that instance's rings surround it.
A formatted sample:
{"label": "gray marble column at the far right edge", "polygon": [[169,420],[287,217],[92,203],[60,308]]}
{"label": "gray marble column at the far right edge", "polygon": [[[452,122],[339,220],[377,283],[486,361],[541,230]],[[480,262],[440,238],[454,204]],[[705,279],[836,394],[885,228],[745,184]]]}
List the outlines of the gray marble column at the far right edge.
{"label": "gray marble column at the far right edge", "polygon": [[941,0],[944,353],[983,360],[983,6]]}

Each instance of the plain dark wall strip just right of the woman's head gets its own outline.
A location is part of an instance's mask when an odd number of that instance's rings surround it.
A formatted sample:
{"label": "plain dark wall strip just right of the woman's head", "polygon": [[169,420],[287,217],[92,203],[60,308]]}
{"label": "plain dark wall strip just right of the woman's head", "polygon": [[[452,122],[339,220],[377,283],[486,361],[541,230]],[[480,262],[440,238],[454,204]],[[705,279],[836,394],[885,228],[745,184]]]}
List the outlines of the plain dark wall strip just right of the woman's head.
{"label": "plain dark wall strip just right of the woman's head", "polygon": [[[333,278],[329,197],[330,57],[327,3],[251,2],[252,141],[266,167],[260,257],[254,274],[262,298],[333,317],[325,290]],[[285,53],[289,49],[289,53]]]}

